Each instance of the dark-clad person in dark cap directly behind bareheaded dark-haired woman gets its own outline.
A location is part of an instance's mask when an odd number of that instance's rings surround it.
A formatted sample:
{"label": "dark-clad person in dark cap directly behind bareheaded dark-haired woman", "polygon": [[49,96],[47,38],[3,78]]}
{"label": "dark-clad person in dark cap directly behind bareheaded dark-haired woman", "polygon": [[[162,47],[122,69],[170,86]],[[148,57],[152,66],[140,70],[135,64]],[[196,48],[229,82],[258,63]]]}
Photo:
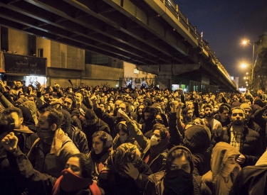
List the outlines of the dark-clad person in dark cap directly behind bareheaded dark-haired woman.
{"label": "dark-clad person in dark cap directly behind bareheaded dark-haired woman", "polygon": [[93,145],[92,136],[96,131],[103,130],[110,134],[110,128],[108,127],[108,124],[98,118],[98,116],[95,115],[95,112],[91,109],[88,109],[85,112],[85,122],[83,122],[82,130],[86,135],[89,150],[91,150]]}

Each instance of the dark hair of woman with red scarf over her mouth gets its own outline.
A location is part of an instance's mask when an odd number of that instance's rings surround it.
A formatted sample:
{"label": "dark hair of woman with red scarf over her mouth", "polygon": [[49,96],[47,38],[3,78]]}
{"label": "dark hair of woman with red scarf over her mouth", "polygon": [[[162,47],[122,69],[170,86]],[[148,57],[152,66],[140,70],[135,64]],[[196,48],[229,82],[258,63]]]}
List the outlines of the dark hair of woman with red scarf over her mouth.
{"label": "dark hair of woman with red scarf over her mouth", "polygon": [[89,159],[88,155],[85,155],[83,153],[78,153],[70,157],[78,157],[79,162],[80,162],[80,169],[82,170],[81,176],[83,178],[92,178],[93,163]]}

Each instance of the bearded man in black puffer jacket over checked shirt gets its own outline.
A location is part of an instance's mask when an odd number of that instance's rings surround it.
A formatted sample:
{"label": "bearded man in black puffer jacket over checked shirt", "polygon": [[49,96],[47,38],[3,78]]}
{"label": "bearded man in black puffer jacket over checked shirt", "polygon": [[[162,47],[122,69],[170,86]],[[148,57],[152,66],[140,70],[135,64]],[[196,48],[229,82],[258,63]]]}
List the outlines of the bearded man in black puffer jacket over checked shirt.
{"label": "bearded man in black puffer jacket over checked shirt", "polygon": [[241,155],[237,157],[241,167],[253,166],[263,154],[263,147],[260,135],[244,126],[245,111],[243,108],[235,107],[231,111],[231,123],[228,126],[215,130],[211,145],[219,142],[233,145]]}

